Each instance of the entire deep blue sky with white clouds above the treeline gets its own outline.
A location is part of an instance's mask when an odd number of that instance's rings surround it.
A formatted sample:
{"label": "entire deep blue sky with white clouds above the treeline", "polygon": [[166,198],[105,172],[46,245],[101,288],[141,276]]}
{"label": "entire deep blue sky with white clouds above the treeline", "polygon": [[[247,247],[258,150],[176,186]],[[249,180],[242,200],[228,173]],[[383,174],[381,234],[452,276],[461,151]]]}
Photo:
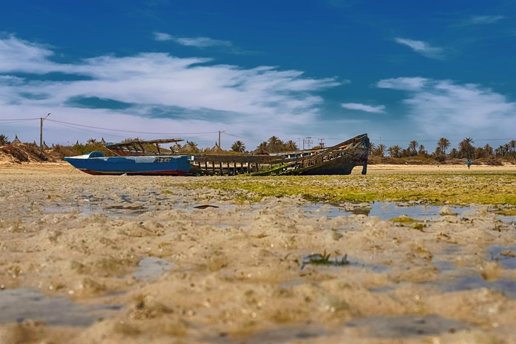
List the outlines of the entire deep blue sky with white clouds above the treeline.
{"label": "entire deep blue sky with white clouds above the treeline", "polygon": [[0,0],[0,134],[496,148],[515,66],[513,0]]}

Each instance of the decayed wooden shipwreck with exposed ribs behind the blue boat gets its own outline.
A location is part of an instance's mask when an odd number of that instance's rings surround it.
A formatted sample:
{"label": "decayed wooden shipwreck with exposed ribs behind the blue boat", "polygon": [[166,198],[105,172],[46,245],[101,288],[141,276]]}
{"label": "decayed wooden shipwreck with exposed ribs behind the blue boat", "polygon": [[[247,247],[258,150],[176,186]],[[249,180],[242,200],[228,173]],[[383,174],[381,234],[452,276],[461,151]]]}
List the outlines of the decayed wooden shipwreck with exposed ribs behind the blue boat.
{"label": "decayed wooden shipwreck with exposed ribs behind the blue boat", "polygon": [[190,175],[346,175],[356,166],[367,173],[369,138],[353,137],[329,148],[268,154],[179,154],[160,148],[160,144],[182,139],[137,140],[106,143],[118,156],[187,155],[192,165]]}

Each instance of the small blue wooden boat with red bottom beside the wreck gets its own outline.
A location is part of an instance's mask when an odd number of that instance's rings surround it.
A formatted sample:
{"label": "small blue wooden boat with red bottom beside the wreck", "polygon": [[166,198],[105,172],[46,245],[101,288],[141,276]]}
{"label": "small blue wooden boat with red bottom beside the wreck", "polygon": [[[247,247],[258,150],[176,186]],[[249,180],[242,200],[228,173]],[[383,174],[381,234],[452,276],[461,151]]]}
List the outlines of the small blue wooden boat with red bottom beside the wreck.
{"label": "small blue wooden boat with red bottom beside the wreck", "polygon": [[92,152],[65,161],[92,175],[187,175],[191,166],[186,155],[105,157]]}

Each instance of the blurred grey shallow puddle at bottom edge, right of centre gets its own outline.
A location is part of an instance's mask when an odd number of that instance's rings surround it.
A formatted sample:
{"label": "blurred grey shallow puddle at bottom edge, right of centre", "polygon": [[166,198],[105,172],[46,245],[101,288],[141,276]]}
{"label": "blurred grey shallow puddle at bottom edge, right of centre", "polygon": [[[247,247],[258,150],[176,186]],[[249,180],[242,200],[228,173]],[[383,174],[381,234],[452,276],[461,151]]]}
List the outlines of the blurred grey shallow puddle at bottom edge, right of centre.
{"label": "blurred grey shallow puddle at bottom edge, right of centre", "polygon": [[347,327],[356,327],[369,337],[399,338],[417,336],[435,336],[442,333],[454,333],[469,330],[473,326],[436,314],[426,316],[368,317],[349,321]]}

